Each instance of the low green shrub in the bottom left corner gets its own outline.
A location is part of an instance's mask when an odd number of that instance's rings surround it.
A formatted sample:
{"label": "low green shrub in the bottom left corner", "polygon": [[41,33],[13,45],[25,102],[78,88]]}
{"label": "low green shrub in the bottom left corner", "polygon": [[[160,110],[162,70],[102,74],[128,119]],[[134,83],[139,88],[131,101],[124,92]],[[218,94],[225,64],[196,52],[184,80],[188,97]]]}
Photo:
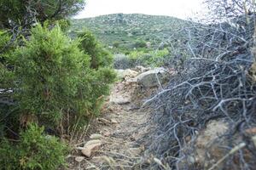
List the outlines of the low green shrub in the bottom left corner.
{"label": "low green shrub in the bottom left corner", "polygon": [[30,125],[20,133],[20,141],[0,143],[0,169],[57,169],[65,166],[67,144],[44,134],[44,127]]}

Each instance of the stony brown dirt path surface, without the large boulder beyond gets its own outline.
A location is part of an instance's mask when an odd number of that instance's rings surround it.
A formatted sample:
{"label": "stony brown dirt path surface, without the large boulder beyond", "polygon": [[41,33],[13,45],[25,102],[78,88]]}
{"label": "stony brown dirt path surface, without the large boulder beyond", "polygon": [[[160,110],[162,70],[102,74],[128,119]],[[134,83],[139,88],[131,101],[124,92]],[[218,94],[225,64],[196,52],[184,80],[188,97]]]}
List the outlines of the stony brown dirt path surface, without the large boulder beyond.
{"label": "stony brown dirt path surface, without the large boulder beyond", "polygon": [[114,85],[102,116],[92,122],[90,134],[103,136],[100,149],[70,169],[140,169],[144,146],[137,141],[147,132],[143,125],[149,116],[140,105],[148,94],[131,80]]}

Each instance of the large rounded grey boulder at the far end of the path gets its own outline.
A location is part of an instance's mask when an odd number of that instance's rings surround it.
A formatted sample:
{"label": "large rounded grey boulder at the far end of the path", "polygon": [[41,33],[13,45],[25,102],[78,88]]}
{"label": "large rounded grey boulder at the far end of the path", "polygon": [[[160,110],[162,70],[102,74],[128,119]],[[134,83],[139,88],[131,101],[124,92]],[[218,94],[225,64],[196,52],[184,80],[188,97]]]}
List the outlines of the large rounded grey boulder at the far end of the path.
{"label": "large rounded grey boulder at the far end of the path", "polygon": [[143,72],[137,76],[137,83],[144,88],[154,88],[159,85],[157,77],[160,83],[163,84],[168,80],[168,72],[164,68]]}

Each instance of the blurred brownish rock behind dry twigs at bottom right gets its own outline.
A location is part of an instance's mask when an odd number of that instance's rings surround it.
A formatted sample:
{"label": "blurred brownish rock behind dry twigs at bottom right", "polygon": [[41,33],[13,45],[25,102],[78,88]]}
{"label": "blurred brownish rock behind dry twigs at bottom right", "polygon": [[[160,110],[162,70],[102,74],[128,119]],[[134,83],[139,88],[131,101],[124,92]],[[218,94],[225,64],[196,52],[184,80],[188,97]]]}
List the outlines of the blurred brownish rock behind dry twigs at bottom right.
{"label": "blurred brownish rock behind dry twigs at bottom right", "polygon": [[203,169],[208,169],[210,165],[216,163],[226,154],[223,148],[219,147],[220,143],[224,144],[226,141],[225,139],[219,139],[219,136],[228,130],[229,124],[223,120],[208,122],[207,127],[197,134],[198,137],[193,146],[195,150],[192,153],[187,150],[187,158],[180,161],[178,167],[183,169],[188,168],[188,166],[198,165],[199,167],[204,167]]}

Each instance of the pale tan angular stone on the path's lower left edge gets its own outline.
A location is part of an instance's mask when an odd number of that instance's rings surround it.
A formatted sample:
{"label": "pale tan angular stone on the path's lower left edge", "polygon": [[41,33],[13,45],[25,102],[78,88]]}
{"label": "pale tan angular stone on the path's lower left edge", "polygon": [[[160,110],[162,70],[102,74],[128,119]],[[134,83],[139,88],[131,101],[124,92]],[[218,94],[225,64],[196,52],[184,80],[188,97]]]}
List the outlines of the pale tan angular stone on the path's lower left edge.
{"label": "pale tan angular stone on the path's lower left edge", "polygon": [[84,156],[90,157],[96,152],[96,150],[100,149],[101,145],[101,140],[90,140],[86,144],[84,144],[84,149],[82,150],[82,153]]}

